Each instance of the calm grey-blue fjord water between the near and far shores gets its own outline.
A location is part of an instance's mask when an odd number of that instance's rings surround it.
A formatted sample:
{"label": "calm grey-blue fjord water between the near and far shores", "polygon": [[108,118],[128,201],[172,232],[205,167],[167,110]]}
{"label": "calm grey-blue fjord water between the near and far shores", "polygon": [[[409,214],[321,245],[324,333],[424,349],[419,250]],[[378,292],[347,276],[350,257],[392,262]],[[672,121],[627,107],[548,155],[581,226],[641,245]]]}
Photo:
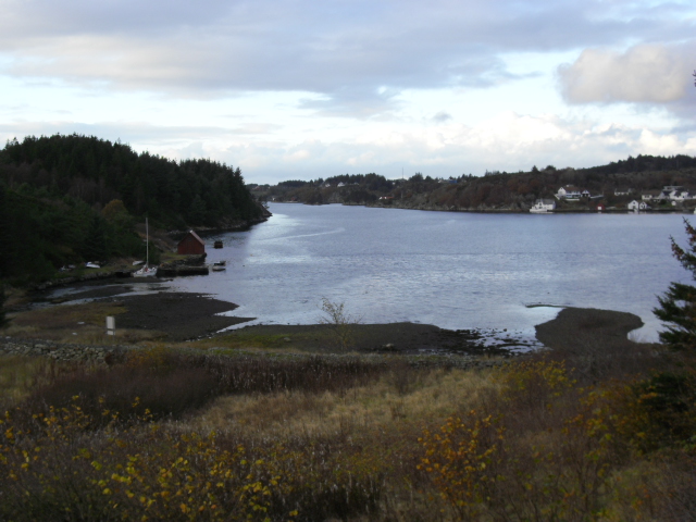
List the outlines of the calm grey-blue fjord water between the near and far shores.
{"label": "calm grey-blue fjord water between the near and far shores", "polygon": [[[365,323],[533,333],[557,308],[632,312],[654,340],[651,310],[688,274],[671,257],[685,244],[679,214],[480,214],[275,203],[250,231],[208,237],[225,272],[182,277],[173,290],[239,304],[258,323],[309,324],[322,298]],[[214,250],[213,240],[225,248]],[[247,323],[249,324],[249,323]]]}

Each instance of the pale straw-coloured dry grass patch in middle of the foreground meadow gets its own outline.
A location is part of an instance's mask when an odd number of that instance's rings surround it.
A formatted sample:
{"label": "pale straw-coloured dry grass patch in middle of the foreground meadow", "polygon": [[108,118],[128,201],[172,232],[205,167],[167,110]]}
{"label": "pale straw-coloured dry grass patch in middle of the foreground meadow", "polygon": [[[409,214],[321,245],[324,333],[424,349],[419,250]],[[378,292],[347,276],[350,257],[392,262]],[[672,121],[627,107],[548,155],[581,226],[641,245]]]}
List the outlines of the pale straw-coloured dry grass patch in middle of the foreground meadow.
{"label": "pale straw-coloured dry grass patch in middle of the foreground meadow", "polygon": [[187,421],[187,426],[233,430],[245,438],[259,440],[323,438],[336,433],[368,439],[375,431],[443,419],[458,408],[475,403],[495,386],[486,373],[419,371],[397,365],[348,390],[224,396]]}

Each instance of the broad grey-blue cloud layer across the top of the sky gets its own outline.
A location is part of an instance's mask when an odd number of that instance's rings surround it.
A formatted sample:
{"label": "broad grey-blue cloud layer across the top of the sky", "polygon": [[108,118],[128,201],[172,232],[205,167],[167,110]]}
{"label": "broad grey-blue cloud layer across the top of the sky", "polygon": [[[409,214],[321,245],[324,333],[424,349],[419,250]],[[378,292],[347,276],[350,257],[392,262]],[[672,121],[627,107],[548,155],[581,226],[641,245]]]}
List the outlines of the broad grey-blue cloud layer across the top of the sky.
{"label": "broad grey-blue cloud layer across the top of the sky", "polygon": [[393,110],[406,88],[514,80],[501,53],[674,41],[694,29],[684,7],[627,0],[609,10],[599,0],[0,0],[0,9],[5,74],[197,98],[308,91],[323,98],[304,108],[359,117]]}

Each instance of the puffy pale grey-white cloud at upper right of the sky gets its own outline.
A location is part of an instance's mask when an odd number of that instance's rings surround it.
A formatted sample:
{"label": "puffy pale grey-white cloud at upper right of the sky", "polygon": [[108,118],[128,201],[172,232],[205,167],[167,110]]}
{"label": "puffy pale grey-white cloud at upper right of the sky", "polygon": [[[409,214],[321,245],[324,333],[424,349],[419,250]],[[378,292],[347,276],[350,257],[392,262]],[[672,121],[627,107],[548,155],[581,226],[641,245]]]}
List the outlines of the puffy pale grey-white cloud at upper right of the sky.
{"label": "puffy pale grey-white cloud at upper right of the sky", "polygon": [[696,41],[689,46],[639,45],[623,53],[586,49],[559,67],[563,97],[571,103],[667,103],[691,87]]}

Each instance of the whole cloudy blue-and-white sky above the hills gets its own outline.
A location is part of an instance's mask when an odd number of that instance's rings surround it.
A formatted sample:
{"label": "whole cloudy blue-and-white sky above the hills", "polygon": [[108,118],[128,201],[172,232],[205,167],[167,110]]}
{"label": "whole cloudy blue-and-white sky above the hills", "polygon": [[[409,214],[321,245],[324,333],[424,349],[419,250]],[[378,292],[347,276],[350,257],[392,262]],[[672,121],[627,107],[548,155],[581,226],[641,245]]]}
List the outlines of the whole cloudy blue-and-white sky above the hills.
{"label": "whole cloudy blue-and-white sky above the hills", "polygon": [[696,2],[0,0],[0,139],[248,183],[696,154]]}

